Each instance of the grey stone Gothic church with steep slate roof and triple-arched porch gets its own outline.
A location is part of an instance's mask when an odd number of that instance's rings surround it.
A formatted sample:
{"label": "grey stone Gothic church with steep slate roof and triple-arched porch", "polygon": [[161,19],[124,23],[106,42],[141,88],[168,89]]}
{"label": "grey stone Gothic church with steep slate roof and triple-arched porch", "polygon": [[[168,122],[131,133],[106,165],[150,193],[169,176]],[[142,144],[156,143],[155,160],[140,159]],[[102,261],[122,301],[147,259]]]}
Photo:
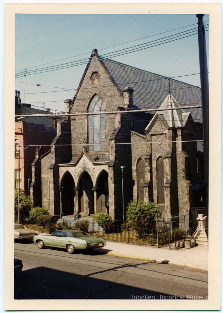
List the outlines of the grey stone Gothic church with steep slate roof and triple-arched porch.
{"label": "grey stone Gothic church with steep slate roof and triple-arched porch", "polygon": [[[101,59],[94,49],[74,99],[65,100],[67,112],[118,113],[58,123],[50,151],[36,151],[33,188],[41,180],[42,195],[33,191],[34,203],[53,215],[106,212],[122,219],[124,166],[124,206],[132,199],[156,201],[168,216],[202,205],[201,194],[190,190],[203,175],[196,141],[201,110],[163,111],[200,102],[199,88]],[[149,108],[160,111],[127,113]]]}

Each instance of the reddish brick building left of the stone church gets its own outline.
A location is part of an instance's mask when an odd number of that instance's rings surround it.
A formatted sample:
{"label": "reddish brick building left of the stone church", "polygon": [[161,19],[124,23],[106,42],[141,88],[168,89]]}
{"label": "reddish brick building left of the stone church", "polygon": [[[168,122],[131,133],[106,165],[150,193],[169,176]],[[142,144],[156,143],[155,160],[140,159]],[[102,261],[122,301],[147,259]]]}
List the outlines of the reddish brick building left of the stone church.
{"label": "reddish brick building left of the stone church", "polygon": [[[35,114],[46,113],[46,111],[34,109],[27,103],[21,103],[20,92],[15,90],[15,113]],[[36,150],[36,147],[32,145],[50,145],[55,135],[55,121],[50,117],[28,117],[20,121],[15,119],[15,189],[20,186],[20,189],[29,194],[29,187],[32,183],[31,164]],[[16,146],[19,146],[20,150],[19,160]],[[49,148],[50,146],[43,146],[42,149],[47,151]],[[18,175],[18,171],[20,171],[20,175]]]}

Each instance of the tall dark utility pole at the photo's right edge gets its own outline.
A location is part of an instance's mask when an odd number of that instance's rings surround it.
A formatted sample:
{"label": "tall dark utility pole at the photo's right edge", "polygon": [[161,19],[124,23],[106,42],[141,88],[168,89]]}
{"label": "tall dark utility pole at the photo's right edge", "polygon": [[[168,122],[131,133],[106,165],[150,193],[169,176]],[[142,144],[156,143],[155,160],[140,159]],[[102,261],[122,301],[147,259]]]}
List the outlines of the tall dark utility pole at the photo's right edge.
{"label": "tall dark utility pole at the photo's right edge", "polygon": [[202,124],[204,142],[204,161],[205,161],[205,192],[207,208],[207,230],[208,230],[208,168],[209,168],[209,83],[208,83],[208,64],[205,40],[204,14],[196,14],[198,18],[198,45],[200,60],[200,85],[201,85],[201,104],[202,104]]}

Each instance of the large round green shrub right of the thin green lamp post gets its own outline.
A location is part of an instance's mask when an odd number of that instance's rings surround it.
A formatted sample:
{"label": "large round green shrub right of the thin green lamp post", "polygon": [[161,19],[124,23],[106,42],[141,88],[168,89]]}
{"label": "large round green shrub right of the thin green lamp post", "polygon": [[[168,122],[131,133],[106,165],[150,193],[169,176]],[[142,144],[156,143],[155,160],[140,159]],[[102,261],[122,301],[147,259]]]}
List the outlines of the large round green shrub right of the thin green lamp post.
{"label": "large round green shrub right of the thin green lamp post", "polygon": [[147,229],[155,228],[155,219],[161,215],[160,208],[154,202],[146,204],[139,200],[132,201],[127,205],[127,225],[137,231],[139,238],[148,236]]}

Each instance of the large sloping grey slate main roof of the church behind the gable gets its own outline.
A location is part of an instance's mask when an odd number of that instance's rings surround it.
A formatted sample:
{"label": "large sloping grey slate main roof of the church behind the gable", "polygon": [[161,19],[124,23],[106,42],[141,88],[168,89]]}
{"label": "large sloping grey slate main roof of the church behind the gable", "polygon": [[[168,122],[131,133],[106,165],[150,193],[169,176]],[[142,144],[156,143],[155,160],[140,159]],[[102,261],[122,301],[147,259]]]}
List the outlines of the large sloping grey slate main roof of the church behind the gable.
{"label": "large sloping grey slate main roof of the church behind the gable", "polygon": [[[137,69],[111,59],[102,61],[121,90],[126,86],[134,89],[134,107],[159,108],[169,93],[169,77]],[[170,90],[179,105],[201,103],[201,90],[198,87],[170,79]],[[195,122],[202,122],[201,108],[185,109],[185,112],[190,112]]]}

